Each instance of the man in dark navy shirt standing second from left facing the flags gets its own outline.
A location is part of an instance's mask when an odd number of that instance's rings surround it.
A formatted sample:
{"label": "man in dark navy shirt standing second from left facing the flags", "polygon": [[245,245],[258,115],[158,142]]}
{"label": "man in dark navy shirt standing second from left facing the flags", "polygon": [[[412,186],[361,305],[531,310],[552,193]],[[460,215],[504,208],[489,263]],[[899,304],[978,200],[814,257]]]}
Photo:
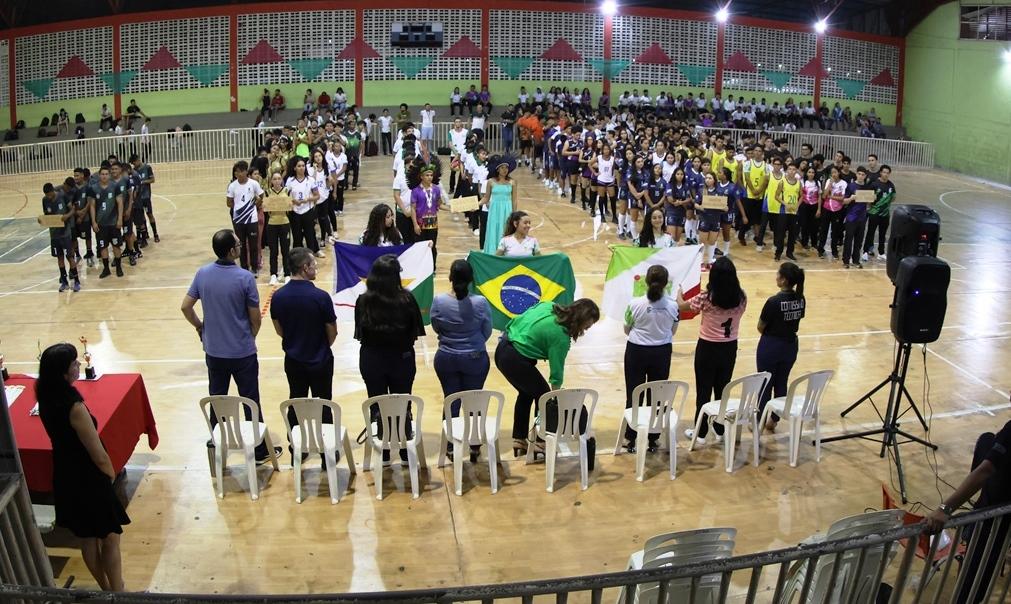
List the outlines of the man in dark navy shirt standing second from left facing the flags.
{"label": "man in dark navy shirt standing second from left facing the flags", "polygon": [[[331,400],[334,396],[334,352],[337,339],[337,314],[330,295],[312,284],[316,260],[307,248],[288,252],[291,280],[274,293],[270,318],[284,349],[284,374],[288,378],[288,397]],[[330,409],[324,409],[323,421],[333,423]],[[293,411],[288,425],[297,423]]]}

